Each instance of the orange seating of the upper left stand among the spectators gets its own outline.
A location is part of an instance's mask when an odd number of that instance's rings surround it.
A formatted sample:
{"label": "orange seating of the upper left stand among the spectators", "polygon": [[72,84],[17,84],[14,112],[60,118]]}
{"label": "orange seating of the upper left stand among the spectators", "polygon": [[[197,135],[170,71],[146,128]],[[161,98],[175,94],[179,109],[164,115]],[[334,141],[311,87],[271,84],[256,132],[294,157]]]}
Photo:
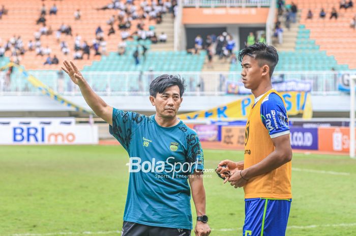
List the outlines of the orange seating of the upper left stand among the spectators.
{"label": "orange seating of the upper left stand among the spectators", "polygon": [[[96,0],[76,0],[72,1],[71,4],[68,4],[67,1],[31,1],[31,0],[20,0],[20,1],[2,1],[2,4],[9,9],[9,12],[6,16],[3,16],[0,24],[0,38],[2,39],[2,44],[5,46],[8,41],[11,41],[12,37],[21,37],[21,44],[26,50],[24,55],[21,55],[20,63],[25,66],[26,70],[43,70],[43,69],[57,69],[58,65],[44,65],[45,59],[47,56],[36,56],[36,50],[27,51],[27,42],[34,40],[34,33],[41,30],[42,24],[36,24],[40,13],[42,11],[42,3],[45,5],[47,14],[44,16],[46,19],[47,29],[51,29],[52,33],[50,35],[42,35],[40,37],[41,47],[50,48],[50,55],[56,55],[59,61],[64,59],[73,59],[75,37],[76,35],[80,36],[81,44],[83,41],[87,41],[88,45],[92,45],[93,39],[96,38],[96,29],[98,26],[101,26],[103,30],[104,40],[106,41],[106,51],[115,52],[117,51],[117,45],[121,41],[120,30],[116,29],[116,24],[114,24],[115,34],[107,36],[107,33],[110,29],[110,25],[107,24],[107,21],[112,15],[117,15],[117,12],[120,10],[117,9],[106,9],[106,10],[97,10],[97,8],[107,8],[110,5],[111,1],[96,1]],[[118,1],[117,1],[118,2]],[[130,1],[128,1],[130,2]],[[169,1],[165,1],[169,2]],[[151,5],[151,1],[134,1],[134,6],[137,9],[138,15],[143,14],[141,5],[147,3]],[[57,7],[56,14],[48,14],[49,9],[53,6]],[[128,7],[126,6],[127,8]],[[74,12],[80,10],[80,20],[76,20],[74,17]],[[152,11],[152,10],[151,10]],[[168,10],[167,10],[168,11]],[[154,29],[156,25],[156,19],[151,19],[151,12],[147,12],[147,17],[143,19],[143,30],[149,31],[149,29]],[[124,16],[126,18],[127,16]],[[116,18],[116,17],[115,17]],[[124,20],[125,21],[125,20]],[[138,31],[137,24],[141,20],[133,19],[131,21],[131,27],[129,29],[130,35],[135,35],[135,32]],[[72,36],[67,35],[66,33],[60,34],[60,39],[57,39],[57,29],[61,27],[62,24],[71,27]],[[160,32],[158,32],[160,33]],[[65,41],[68,45],[70,53],[64,55],[61,51],[60,42]],[[94,55],[94,50],[91,49],[91,54]],[[13,55],[11,50],[7,50],[5,58],[1,59],[1,63],[5,64],[9,60],[7,57]],[[108,56],[109,57],[109,56]],[[100,56],[94,56],[94,61],[99,61]],[[131,57],[132,58],[132,57]],[[80,69],[83,69],[84,65],[90,65],[93,62],[93,57],[87,59],[84,55],[82,60],[77,60],[76,64]]]}

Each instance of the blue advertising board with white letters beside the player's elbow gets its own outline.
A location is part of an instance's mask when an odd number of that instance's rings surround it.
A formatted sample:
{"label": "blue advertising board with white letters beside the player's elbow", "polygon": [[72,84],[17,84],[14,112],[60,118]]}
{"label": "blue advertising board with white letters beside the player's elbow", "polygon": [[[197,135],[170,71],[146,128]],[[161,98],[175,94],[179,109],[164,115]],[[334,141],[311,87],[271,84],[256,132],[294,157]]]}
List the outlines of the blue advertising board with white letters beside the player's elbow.
{"label": "blue advertising board with white letters beside the player's elbow", "polygon": [[318,150],[317,128],[290,128],[292,149]]}

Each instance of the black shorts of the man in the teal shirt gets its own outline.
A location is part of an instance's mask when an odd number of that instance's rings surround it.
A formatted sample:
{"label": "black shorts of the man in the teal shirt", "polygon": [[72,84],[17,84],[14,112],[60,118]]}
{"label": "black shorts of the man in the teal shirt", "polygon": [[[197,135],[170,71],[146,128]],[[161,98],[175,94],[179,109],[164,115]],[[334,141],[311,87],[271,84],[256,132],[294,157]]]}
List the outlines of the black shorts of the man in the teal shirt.
{"label": "black shorts of the man in the teal shirt", "polygon": [[191,230],[166,228],[124,221],[121,236],[190,236]]}

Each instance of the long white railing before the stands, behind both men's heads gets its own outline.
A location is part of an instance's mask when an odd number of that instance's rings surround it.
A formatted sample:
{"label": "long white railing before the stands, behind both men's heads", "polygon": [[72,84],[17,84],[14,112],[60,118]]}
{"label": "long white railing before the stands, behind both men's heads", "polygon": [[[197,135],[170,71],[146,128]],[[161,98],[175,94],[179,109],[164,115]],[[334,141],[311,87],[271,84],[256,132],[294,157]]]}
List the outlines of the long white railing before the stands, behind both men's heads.
{"label": "long white railing before the stands, behind both men's heads", "polygon": [[[91,87],[101,95],[143,95],[149,94],[151,81],[168,72],[83,72],[84,78]],[[58,76],[56,71],[29,72],[45,85],[63,95],[80,95],[79,89],[66,75]],[[180,75],[187,84],[189,95],[226,95],[229,82],[240,82],[238,72],[172,72]],[[344,72],[275,72],[275,81],[308,81],[312,94],[341,94],[340,83],[345,82],[354,71]],[[30,84],[24,74],[14,72],[10,83],[6,74],[0,72],[0,95],[37,95],[38,88]]]}

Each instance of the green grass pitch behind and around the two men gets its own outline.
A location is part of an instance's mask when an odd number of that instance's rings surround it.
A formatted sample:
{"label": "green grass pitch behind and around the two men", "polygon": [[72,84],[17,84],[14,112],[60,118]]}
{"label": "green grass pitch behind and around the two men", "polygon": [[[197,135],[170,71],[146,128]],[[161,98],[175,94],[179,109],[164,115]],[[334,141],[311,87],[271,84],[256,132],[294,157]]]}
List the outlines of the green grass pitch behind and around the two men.
{"label": "green grass pitch behind and around the two men", "polygon": [[[221,159],[242,159],[243,153],[204,150],[204,158],[205,168],[214,168]],[[0,235],[120,235],[109,231],[122,226],[127,162],[119,146],[0,146]],[[350,174],[293,171],[286,235],[356,235],[356,160],[294,154],[292,162],[302,170]],[[204,186],[211,235],[242,235],[243,190],[223,185],[214,173],[208,177]]]}

